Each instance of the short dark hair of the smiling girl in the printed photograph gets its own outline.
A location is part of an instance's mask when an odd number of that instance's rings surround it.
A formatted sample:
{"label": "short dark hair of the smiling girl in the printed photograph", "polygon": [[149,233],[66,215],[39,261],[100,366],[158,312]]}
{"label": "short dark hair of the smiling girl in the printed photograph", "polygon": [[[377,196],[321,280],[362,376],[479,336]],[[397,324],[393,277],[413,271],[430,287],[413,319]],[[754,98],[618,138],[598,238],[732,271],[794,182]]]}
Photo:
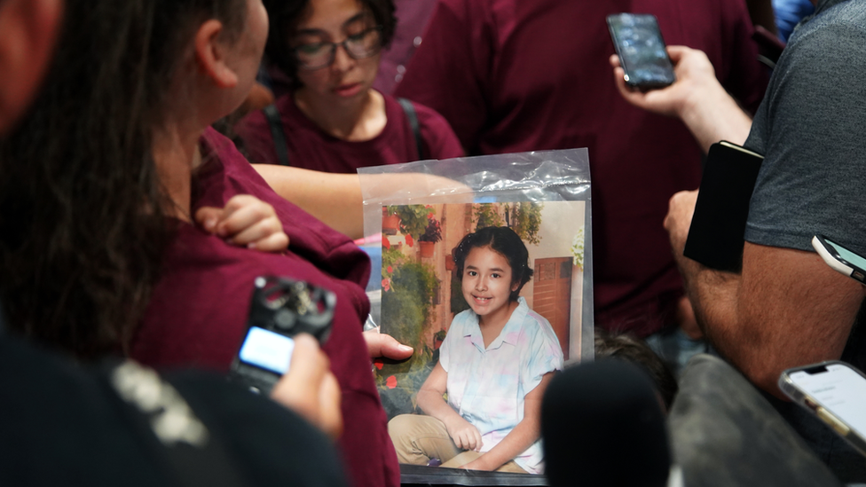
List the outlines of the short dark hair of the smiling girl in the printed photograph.
{"label": "short dark hair of the smiling girl in the printed photograph", "polygon": [[529,266],[529,251],[526,250],[524,240],[520,240],[515,231],[507,226],[488,226],[469,233],[451,252],[457,279],[463,280],[466,257],[469,251],[476,247],[491,247],[508,260],[508,265],[511,266],[511,284],[518,284],[517,289],[508,295],[508,299],[517,301],[520,290],[532,279],[533,272]]}

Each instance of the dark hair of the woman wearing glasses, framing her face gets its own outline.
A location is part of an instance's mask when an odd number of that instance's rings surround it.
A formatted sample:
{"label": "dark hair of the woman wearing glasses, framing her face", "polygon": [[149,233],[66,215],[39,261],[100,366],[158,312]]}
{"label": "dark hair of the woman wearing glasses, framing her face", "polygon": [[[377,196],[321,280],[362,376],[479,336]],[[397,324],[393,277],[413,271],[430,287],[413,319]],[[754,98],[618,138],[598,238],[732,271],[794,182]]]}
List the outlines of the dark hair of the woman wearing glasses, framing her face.
{"label": "dark hair of the woman wearing glasses, framing her face", "polygon": [[[394,1],[357,1],[364,10],[373,13],[376,25],[382,27],[382,48],[388,47],[394,38],[394,29],[397,27]],[[310,0],[264,0],[263,3],[271,20],[271,30],[268,32],[268,43],[264,52],[269,60],[291,78],[292,88],[298,89],[302,85],[297,81],[297,59],[288,41],[295,35],[298,24],[303,20],[303,15],[310,5]]]}

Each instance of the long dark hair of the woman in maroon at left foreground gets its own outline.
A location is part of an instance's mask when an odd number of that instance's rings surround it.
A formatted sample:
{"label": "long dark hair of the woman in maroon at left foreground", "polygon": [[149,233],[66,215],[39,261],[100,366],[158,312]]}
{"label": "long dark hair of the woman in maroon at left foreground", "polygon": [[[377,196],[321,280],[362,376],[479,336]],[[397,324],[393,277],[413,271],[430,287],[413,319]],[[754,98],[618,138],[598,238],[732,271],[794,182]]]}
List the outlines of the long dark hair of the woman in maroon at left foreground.
{"label": "long dark hair of the woman in maroon at left foreground", "polygon": [[12,328],[79,357],[126,350],[159,275],[170,200],[154,163],[169,83],[207,19],[244,0],[67,2],[30,113],[0,140],[0,299]]}

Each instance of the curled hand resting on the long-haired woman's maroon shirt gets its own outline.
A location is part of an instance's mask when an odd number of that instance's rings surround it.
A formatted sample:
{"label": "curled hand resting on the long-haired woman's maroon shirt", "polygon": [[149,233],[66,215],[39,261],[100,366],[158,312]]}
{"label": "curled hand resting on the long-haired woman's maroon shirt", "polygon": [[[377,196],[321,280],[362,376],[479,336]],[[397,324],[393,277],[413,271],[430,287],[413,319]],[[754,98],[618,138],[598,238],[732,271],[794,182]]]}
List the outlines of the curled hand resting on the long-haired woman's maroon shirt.
{"label": "curled hand resting on the long-haired woman's maroon shirt", "polygon": [[288,247],[288,236],[273,207],[248,194],[232,197],[225,208],[199,208],[195,221],[233,245],[263,252],[282,252]]}

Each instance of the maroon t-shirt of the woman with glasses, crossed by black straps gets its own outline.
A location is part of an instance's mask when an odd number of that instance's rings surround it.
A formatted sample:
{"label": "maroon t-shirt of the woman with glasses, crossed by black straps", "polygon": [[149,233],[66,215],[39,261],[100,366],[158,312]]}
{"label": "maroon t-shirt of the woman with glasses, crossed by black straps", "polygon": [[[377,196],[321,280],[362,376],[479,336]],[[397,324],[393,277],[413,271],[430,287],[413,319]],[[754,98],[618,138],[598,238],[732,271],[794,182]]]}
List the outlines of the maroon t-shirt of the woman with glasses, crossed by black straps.
{"label": "maroon t-shirt of the woman with glasses, crossed by black straps", "polygon": [[[381,134],[361,142],[350,142],[325,133],[298,109],[291,95],[279,98],[276,106],[286,134],[289,164],[303,169],[354,173],[358,168],[421,159],[403,108],[396,98],[383,96],[388,122]],[[427,159],[461,157],[463,148],[460,141],[442,115],[426,106],[413,105]],[[234,129],[243,139],[250,161],[279,164],[264,111],[248,114]]]}

